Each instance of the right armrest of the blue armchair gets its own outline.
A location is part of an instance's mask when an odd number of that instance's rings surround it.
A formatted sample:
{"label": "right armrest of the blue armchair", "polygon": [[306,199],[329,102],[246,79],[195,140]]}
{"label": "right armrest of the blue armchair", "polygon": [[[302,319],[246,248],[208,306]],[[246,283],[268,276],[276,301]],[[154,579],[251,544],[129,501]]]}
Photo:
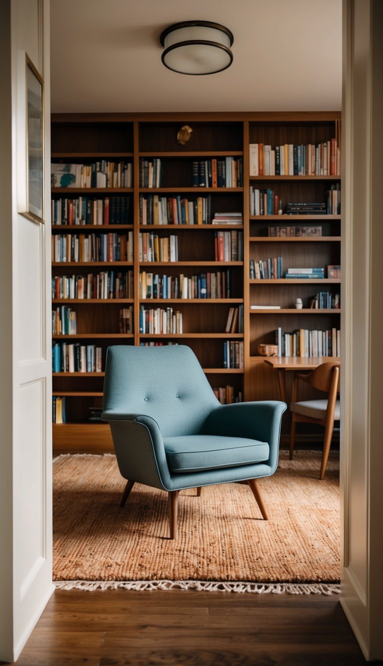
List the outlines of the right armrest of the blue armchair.
{"label": "right armrest of the blue armchair", "polygon": [[268,464],[274,470],[278,462],[282,415],[286,409],[285,402],[279,400],[221,405],[207,416],[202,432],[267,442],[270,448]]}

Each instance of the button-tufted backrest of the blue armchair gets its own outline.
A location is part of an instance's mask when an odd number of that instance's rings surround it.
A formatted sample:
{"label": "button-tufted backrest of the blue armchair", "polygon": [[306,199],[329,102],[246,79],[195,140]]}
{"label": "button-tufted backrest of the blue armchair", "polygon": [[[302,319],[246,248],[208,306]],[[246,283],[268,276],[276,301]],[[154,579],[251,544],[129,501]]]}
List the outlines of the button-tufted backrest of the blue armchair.
{"label": "button-tufted backrest of the blue armchair", "polygon": [[103,406],[147,414],[172,437],[197,434],[219,401],[188,346],[116,345],[106,354]]}

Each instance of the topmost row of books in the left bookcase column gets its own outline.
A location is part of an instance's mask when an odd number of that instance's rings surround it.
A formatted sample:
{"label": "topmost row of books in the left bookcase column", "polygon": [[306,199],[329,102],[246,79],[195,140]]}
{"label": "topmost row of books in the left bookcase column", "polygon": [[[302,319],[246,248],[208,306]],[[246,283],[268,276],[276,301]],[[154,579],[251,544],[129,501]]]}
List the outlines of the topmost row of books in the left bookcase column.
{"label": "topmost row of books in the left bookcase column", "polygon": [[91,164],[51,164],[52,187],[132,187],[132,163],[100,160]]}

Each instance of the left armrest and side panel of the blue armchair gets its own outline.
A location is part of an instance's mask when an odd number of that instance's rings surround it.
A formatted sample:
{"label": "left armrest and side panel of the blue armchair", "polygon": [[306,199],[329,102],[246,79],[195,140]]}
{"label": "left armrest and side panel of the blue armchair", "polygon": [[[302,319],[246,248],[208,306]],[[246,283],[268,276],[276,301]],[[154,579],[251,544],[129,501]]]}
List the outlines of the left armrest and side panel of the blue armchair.
{"label": "left armrest and side panel of the blue armchair", "polygon": [[125,479],[169,489],[170,472],[158,423],[146,414],[104,410],[112,432],[118,468]]}

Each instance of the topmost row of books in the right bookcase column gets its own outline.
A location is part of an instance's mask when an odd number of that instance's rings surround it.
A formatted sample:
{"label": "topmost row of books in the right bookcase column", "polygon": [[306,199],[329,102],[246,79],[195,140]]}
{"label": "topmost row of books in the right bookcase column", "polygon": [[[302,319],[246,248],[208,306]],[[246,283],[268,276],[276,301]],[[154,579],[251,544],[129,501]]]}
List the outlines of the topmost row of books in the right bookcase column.
{"label": "topmost row of books in the right bookcase column", "polygon": [[271,147],[249,145],[250,176],[339,176],[340,147],[336,139],[323,143]]}

